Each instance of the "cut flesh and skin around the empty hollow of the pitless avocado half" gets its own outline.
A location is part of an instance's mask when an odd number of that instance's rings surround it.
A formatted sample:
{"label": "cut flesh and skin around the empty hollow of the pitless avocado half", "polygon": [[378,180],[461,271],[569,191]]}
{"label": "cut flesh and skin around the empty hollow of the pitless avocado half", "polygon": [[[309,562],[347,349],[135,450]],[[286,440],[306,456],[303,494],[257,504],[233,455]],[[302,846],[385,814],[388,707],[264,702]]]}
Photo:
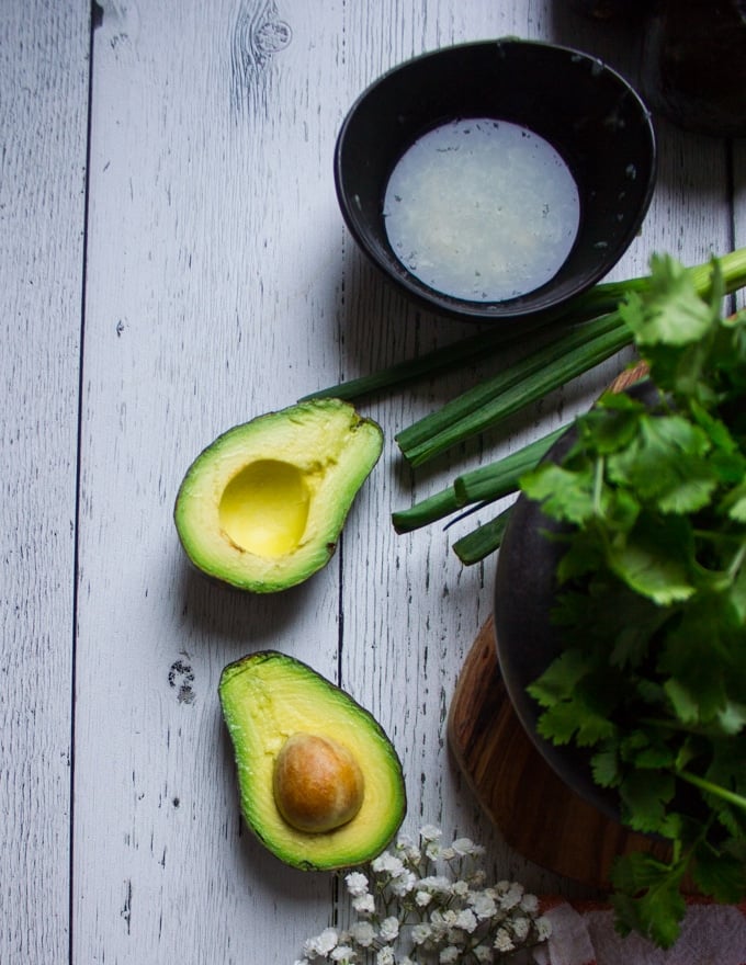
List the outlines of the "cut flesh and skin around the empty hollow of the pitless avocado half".
{"label": "cut flesh and skin around the empty hollow of the pitless avocado half", "polygon": [[[382,450],[381,427],[340,399],[298,402],[233,427],[197,455],[179,487],[173,519],[187,557],[212,580],[255,593],[307,580],[334,556],[352,502]],[[230,484],[260,465],[295,473],[307,500],[305,530],[302,521],[287,526],[289,532],[297,527],[295,545],[269,557],[231,538],[222,518]],[[264,488],[271,493],[270,485]],[[247,489],[248,511],[250,496]],[[275,495],[275,516],[281,501]],[[292,498],[287,506],[302,515]]]}

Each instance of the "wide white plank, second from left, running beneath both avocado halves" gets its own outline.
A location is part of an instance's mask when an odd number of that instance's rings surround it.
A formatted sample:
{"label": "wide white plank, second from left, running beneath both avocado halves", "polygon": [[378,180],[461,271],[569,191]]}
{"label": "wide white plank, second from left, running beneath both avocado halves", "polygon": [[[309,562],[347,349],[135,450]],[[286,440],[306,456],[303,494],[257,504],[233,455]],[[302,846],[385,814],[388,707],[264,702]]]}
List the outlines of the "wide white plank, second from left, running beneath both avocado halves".
{"label": "wide white plank, second from left, running beneath both avocado halves", "polygon": [[81,963],[292,961],[331,907],[328,876],[281,865],[241,827],[216,688],[259,647],[334,678],[336,568],[282,598],[222,590],[188,570],[171,509],[215,435],[339,374],[341,227],[326,177],[339,38],[332,10],[281,18],[256,2],[106,10],[95,34]]}

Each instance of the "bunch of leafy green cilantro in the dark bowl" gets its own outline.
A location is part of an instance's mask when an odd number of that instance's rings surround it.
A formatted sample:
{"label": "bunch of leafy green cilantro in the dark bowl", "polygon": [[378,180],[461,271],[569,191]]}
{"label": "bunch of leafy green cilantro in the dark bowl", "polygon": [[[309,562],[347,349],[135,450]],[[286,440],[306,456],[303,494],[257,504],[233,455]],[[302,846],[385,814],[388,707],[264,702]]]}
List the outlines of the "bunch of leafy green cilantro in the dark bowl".
{"label": "bunch of leafy green cilantro in the dark bowl", "polygon": [[613,872],[617,926],[669,947],[685,887],[746,897],[746,311],[670,257],[620,311],[649,377],[576,420],[521,479],[562,524],[561,655],[530,686],[540,733],[590,756],[630,828],[664,839]]}

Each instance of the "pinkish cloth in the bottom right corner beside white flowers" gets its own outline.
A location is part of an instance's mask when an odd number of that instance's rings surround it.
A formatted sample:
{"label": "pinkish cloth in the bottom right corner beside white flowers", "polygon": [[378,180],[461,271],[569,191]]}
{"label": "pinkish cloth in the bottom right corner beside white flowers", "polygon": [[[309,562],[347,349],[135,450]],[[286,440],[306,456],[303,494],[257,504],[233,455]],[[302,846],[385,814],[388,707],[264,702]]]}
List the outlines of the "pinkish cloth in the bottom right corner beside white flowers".
{"label": "pinkish cloth in the bottom right corner beside white flowers", "polygon": [[538,965],[746,965],[746,905],[689,902],[672,949],[614,931],[608,905],[545,902],[552,936],[535,953]]}

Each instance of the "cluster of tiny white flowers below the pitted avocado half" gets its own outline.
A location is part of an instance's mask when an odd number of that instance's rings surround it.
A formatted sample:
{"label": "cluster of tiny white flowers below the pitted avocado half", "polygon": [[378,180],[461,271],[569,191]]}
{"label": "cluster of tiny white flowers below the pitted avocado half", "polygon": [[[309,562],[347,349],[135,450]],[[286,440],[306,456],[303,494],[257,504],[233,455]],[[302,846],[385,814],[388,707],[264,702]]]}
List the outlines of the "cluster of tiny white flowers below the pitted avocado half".
{"label": "cluster of tiny white flowers below the pitted avocado half", "polygon": [[295,965],[317,958],[339,965],[478,965],[549,938],[534,895],[516,882],[485,887],[476,863],[484,849],[468,838],[444,845],[441,837],[426,825],[417,843],[400,837],[365,871],[348,874],[358,920],[308,939]]}

